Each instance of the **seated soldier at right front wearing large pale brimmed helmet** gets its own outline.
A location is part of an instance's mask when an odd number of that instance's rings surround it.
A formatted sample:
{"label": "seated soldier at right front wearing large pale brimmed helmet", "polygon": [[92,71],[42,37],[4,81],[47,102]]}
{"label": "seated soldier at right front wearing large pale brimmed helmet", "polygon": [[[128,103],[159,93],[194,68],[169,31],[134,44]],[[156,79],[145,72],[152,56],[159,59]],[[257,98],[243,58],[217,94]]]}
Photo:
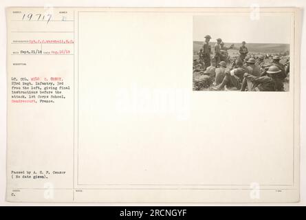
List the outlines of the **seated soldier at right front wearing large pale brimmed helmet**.
{"label": "seated soldier at right front wearing large pale brimmed helmet", "polygon": [[[267,69],[267,76],[256,77],[251,74],[244,74],[245,80],[252,82],[252,91],[284,91],[284,85],[279,78],[281,69],[277,66],[271,66]],[[241,87],[241,91],[244,89]]]}

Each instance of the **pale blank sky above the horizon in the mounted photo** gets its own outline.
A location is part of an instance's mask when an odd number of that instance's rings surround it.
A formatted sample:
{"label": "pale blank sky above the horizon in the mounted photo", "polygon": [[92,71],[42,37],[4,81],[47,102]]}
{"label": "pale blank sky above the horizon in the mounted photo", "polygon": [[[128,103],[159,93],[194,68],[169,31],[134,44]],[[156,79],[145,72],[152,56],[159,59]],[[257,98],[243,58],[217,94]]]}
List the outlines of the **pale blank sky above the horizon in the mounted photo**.
{"label": "pale blank sky above the horizon in the mounted photo", "polygon": [[245,15],[195,16],[193,18],[193,41],[204,41],[209,34],[216,41],[226,43],[290,43],[289,15],[261,15],[251,20]]}

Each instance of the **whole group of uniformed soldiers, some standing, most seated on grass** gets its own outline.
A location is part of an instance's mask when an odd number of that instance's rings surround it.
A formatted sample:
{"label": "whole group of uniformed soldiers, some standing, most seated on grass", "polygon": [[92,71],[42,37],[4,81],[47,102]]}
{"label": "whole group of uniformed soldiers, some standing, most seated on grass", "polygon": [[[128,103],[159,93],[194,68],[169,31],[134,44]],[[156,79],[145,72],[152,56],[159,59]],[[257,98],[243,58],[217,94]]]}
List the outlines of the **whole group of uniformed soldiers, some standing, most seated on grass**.
{"label": "whole group of uniformed soldiers, some standing, most seated on grass", "polygon": [[285,65],[280,63],[280,56],[273,56],[272,62],[265,63],[265,57],[248,57],[245,41],[239,47],[239,57],[229,62],[227,50],[234,45],[225,47],[221,39],[217,39],[212,54],[209,45],[211,37],[205,36],[203,47],[199,50],[199,59],[193,61],[195,90],[210,87],[212,90],[240,91],[285,91],[284,82],[289,74],[289,58]]}

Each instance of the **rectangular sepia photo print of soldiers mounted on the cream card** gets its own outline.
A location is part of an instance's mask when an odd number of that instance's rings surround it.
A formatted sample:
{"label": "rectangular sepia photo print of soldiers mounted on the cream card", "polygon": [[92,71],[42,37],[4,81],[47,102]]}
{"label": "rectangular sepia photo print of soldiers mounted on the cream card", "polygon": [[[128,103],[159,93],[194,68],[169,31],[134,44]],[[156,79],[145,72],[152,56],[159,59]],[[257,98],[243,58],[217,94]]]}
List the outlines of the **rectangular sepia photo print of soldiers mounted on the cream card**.
{"label": "rectangular sepia photo print of soldiers mounted on the cream card", "polygon": [[193,91],[289,91],[290,17],[193,17]]}

